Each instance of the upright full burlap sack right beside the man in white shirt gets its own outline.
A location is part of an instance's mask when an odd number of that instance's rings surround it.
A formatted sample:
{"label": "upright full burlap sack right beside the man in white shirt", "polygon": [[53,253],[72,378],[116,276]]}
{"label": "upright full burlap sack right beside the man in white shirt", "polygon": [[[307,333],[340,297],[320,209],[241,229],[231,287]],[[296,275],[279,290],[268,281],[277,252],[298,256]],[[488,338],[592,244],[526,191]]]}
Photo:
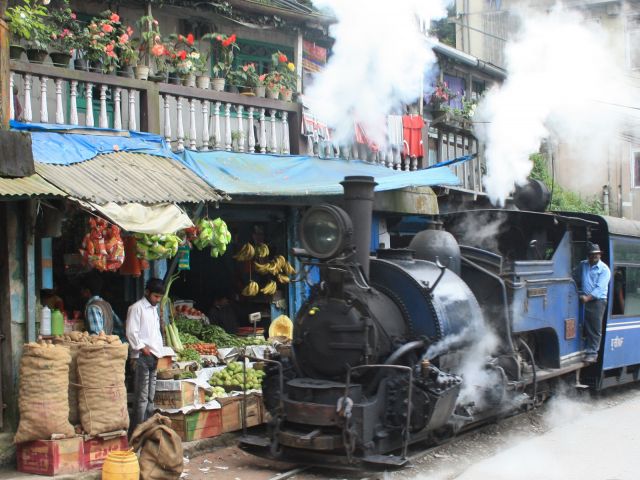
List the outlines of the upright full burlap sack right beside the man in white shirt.
{"label": "upright full burlap sack right beside the man in white shirt", "polygon": [[78,352],[78,408],[89,435],[127,430],[127,344],[83,345]]}

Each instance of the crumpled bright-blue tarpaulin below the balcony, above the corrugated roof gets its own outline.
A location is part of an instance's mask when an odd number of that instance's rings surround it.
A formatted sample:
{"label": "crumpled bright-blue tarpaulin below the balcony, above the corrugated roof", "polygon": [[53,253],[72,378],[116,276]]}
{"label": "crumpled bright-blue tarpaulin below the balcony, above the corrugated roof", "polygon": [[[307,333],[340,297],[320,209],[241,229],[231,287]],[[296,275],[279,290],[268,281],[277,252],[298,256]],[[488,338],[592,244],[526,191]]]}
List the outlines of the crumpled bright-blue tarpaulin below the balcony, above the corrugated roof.
{"label": "crumpled bright-blue tarpaulin below the balcony, above the corrugated roof", "polygon": [[151,133],[77,125],[20,123],[13,120],[11,128],[31,132],[33,158],[39,163],[71,165],[112,152],[148,153],[177,158],[164,138]]}

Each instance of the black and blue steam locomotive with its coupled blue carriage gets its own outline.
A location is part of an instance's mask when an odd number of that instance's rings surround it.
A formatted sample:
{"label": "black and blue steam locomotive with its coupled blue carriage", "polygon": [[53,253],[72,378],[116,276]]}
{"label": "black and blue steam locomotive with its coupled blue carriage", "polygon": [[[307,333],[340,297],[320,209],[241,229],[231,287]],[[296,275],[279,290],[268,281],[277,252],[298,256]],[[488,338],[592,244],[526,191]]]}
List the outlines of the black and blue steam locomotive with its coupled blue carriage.
{"label": "black and blue steam locomotive with its coupled blue carriage", "polygon": [[[638,379],[640,222],[456,212],[408,248],[370,257],[375,182],[342,184],[344,210],[320,205],[302,218],[295,254],[320,282],[295,319],[292,355],[267,362],[268,433],[244,436],[244,448],[304,464],[401,466],[410,444],[534,406],[559,381],[603,389]],[[589,242],[612,271],[595,364],[584,361],[572,275]]]}

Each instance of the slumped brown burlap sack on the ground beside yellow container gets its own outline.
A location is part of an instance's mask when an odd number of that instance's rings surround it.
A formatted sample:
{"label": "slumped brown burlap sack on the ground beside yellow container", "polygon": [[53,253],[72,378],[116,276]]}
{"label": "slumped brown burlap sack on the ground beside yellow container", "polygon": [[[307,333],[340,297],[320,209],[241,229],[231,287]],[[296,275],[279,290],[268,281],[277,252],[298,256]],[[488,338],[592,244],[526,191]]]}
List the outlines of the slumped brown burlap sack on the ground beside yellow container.
{"label": "slumped brown burlap sack on the ground beside yellow container", "polygon": [[182,440],[171,420],[156,413],[133,431],[131,449],[140,450],[141,480],[177,480],[184,468]]}

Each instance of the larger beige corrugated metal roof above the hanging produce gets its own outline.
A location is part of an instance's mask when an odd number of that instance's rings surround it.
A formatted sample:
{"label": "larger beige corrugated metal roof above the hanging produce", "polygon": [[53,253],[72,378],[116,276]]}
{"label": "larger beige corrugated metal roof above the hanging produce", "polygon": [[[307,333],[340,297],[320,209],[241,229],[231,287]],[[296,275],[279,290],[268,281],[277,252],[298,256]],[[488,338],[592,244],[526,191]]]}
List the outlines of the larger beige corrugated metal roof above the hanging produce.
{"label": "larger beige corrugated metal roof above the hanging produce", "polygon": [[36,172],[73,197],[101,204],[226,198],[176,160],[143,153],[108,153],[72,165],[36,162]]}

